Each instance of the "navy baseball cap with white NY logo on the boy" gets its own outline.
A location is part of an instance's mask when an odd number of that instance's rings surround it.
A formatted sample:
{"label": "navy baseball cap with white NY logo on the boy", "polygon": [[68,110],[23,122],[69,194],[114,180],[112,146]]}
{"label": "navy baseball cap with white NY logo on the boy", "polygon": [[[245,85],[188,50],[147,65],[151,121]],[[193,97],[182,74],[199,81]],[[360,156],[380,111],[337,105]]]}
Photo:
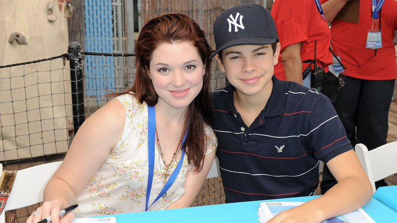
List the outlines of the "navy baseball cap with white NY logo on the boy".
{"label": "navy baseball cap with white NY logo on the boy", "polygon": [[243,44],[278,42],[276,25],[263,6],[240,5],[221,13],[214,22],[216,51],[211,58],[228,47]]}

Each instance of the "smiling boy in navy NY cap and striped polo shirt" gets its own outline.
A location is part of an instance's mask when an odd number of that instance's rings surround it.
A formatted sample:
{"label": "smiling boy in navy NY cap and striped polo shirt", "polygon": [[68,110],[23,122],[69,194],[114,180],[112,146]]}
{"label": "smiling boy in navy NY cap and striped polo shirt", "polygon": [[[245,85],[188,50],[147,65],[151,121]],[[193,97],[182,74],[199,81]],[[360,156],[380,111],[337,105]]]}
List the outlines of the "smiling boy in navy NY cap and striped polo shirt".
{"label": "smiling boy in navy NY cap and striped polo shirt", "polygon": [[259,5],[226,10],[214,37],[212,57],[230,81],[212,93],[226,202],[313,195],[320,160],[338,183],[271,222],[320,222],[368,202],[370,181],[329,99],[273,75],[280,43],[270,13]]}

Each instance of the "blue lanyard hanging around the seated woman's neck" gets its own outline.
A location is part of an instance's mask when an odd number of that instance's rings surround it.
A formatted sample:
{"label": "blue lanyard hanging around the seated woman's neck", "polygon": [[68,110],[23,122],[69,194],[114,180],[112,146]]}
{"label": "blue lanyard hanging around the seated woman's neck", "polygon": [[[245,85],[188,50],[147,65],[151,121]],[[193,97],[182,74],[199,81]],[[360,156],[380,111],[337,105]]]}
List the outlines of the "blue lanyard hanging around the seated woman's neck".
{"label": "blue lanyard hanging around the seated woman's neck", "polygon": [[[174,172],[172,173],[171,176],[169,176],[168,181],[165,183],[163,189],[160,191],[158,194],[157,198],[154,200],[154,202],[148,207],[149,204],[149,197],[150,197],[150,191],[152,189],[152,183],[153,183],[153,172],[154,172],[154,151],[156,149],[155,147],[155,125],[156,125],[156,111],[154,109],[154,106],[149,106],[148,105],[148,116],[149,116],[149,121],[148,121],[148,156],[149,156],[149,175],[148,175],[148,187],[146,189],[146,209],[147,211],[168,189],[173,185],[175,180],[177,179],[177,176],[182,168],[182,163],[183,163],[183,157],[185,156],[185,151],[182,149],[182,156],[181,159],[178,162],[177,168],[175,168]],[[182,145],[185,142],[187,135],[187,131],[185,133],[185,136],[183,137],[182,140]]]}

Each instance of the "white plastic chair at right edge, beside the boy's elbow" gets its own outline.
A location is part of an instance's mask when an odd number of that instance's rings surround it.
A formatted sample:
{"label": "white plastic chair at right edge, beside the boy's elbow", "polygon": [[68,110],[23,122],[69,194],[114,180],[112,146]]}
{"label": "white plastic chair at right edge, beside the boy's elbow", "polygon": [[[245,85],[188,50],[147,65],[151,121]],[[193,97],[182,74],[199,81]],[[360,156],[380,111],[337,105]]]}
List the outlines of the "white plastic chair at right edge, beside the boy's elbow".
{"label": "white plastic chair at right edge, beside the boy's elbow", "polygon": [[392,142],[368,151],[364,144],[357,144],[355,151],[368,178],[373,193],[376,191],[375,181],[397,173],[397,142]]}

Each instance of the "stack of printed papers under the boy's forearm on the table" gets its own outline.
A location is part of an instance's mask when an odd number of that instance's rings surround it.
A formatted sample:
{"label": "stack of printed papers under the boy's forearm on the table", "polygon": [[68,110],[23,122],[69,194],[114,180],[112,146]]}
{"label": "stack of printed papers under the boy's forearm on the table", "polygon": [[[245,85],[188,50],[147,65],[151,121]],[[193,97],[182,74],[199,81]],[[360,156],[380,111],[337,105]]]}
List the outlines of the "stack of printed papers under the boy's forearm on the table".
{"label": "stack of printed papers under the boy's forearm on the table", "polygon": [[[304,202],[262,202],[258,209],[258,220],[262,223],[266,223],[269,219],[276,216],[281,211],[288,210],[290,208],[294,208],[303,204]],[[364,210],[361,208],[355,211],[352,211],[347,214],[343,214],[342,216],[336,216],[327,220],[322,221],[321,223],[376,223],[374,219],[370,217]]]}

